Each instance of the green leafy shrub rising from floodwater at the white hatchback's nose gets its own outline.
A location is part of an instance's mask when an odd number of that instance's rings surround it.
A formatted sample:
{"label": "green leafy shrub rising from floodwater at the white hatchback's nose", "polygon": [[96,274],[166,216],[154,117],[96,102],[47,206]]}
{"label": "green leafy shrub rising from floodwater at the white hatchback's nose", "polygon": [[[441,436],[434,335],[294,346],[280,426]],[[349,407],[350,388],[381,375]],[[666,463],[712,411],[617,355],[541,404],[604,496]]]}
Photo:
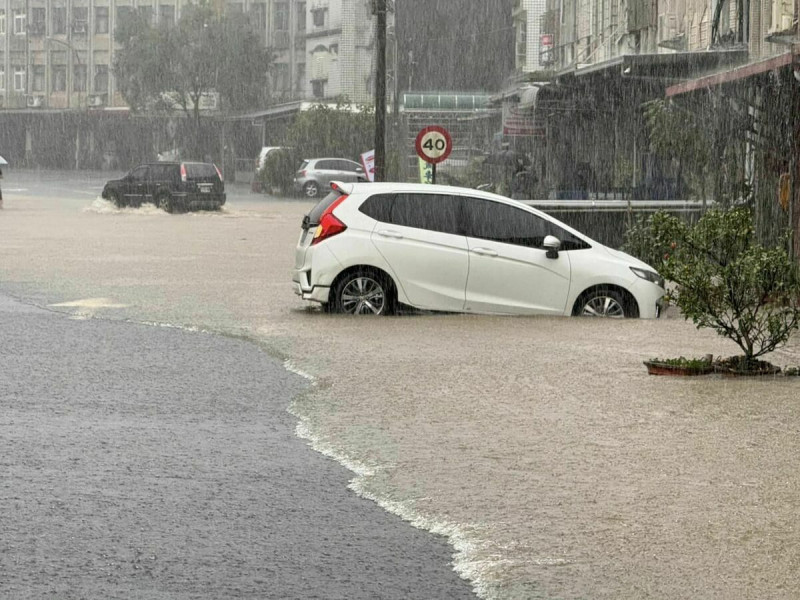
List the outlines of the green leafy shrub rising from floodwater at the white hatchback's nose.
{"label": "green leafy shrub rising from floodwater at the white hatchback's nose", "polygon": [[684,318],[731,339],[752,367],[800,325],[800,273],[786,242],[759,244],[740,206],[710,210],[693,226],[655,213],[628,232],[625,249],[674,282],[669,297]]}

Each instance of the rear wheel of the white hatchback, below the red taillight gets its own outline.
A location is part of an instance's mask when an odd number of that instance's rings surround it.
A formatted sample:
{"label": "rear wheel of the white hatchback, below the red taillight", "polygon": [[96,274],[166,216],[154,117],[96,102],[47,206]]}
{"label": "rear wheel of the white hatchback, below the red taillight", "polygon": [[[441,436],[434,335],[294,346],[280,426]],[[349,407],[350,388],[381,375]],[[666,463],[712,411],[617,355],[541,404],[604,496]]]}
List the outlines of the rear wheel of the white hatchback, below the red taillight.
{"label": "rear wheel of the white hatchback, below the red taillight", "polygon": [[329,308],[347,315],[391,315],[395,312],[394,285],[374,269],[358,269],[340,278],[333,287]]}

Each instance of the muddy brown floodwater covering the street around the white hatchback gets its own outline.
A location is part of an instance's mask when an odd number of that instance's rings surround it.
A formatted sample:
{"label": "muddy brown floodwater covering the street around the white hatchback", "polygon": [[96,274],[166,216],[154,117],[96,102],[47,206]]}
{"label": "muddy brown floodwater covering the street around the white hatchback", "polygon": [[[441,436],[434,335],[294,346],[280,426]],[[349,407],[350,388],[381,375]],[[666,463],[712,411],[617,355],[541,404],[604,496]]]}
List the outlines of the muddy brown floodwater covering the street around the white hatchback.
{"label": "muddy brown floodwater covering the street around the white hatchback", "polygon": [[[5,190],[5,187],[4,187]],[[292,292],[303,200],[219,213],[5,194],[0,288],[85,318],[245,336],[313,381],[298,435],[449,536],[486,598],[796,598],[800,380],[648,376],[737,348],[658,321],[350,318]],[[800,340],[768,357],[800,365]]]}

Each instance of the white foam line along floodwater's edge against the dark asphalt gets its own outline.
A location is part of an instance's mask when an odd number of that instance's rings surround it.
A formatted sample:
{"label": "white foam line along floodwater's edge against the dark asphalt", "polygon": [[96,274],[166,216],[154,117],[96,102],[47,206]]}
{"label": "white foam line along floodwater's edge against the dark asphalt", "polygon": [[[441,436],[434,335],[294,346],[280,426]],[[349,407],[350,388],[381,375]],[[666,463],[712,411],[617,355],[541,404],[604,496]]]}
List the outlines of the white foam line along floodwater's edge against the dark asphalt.
{"label": "white foam line along floodwater's edge against the dark asphalt", "polygon": [[[311,385],[317,384],[316,378],[313,375],[299,369],[291,360],[285,360],[283,364],[287,371],[310,381]],[[370,492],[366,486],[366,479],[372,477],[381,467],[377,465],[369,466],[354,460],[344,455],[333,444],[325,441],[321,436],[316,435],[308,419],[297,410],[294,401],[292,401],[288,410],[289,413],[298,420],[297,426],[295,427],[295,435],[297,435],[297,437],[307,440],[315,451],[335,460],[349,471],[355,473],[356,476],[351,479],[348,484],[350,490],[362,498],[375,502],[386,512],[400,517],[417,529],[446,537],[448,543],[455,551],[453,553],[453,570],[459,577],[472,584],[472,591],[475,592],[478,597],[488,599],[493,596],[491,593],[492,586],[488,584],[486,576],[492,572],[497,572],[498,569],[503,567],[504,563],[508,563],[509,565],[511,563],[496,555],[490,559],[478,558],[478,550],[480,549],[481,543],[471,532],[477,531],[479,527],[426,517],[415,510],[409,503],[388,500]]]}

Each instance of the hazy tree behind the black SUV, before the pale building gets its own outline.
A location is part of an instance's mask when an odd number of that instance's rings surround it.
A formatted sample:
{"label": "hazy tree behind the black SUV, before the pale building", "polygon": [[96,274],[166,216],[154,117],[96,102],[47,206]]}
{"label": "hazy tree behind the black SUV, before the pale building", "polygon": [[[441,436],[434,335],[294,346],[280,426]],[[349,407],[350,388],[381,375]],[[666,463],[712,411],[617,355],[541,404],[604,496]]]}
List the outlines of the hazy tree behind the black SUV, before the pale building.
{"label": "hazy tree behind the black SUV, before the pale building", "polygon": [[117,85],[131,110],[174,110],[191,119],[191,145],[201,152],[201,99],[219,95],[231,110],[266,101],[271,52],[241,18],[218,18],[206,3],[186,4],[172,26],[153,27],[136,12],[116,31]]}

